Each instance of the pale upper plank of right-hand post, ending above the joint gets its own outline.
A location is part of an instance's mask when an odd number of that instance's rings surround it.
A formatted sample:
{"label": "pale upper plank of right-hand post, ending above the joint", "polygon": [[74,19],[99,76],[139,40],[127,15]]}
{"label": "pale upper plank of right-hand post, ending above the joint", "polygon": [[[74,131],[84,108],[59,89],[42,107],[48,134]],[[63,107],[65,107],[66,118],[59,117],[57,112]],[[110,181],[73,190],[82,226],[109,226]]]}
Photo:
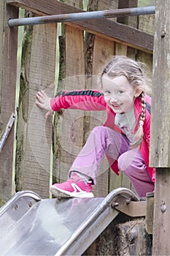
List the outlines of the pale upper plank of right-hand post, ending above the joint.
{"label": "pale upper plank of right-hand post, ending above the joint", "polygon": [[158,1],[152,78],[150,165],[170,167],[170,1]]}

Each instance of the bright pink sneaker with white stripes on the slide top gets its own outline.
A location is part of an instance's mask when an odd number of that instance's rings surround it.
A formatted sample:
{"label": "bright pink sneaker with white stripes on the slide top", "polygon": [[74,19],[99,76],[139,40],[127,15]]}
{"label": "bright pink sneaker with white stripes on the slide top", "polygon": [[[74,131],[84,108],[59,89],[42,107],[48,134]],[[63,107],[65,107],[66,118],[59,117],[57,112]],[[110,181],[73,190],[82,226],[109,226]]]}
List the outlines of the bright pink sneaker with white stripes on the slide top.
{"label": "bright pink sneaker with white stripes on the slide top", "polygon": [[91,184],[85,184],[77,174],[61,184],[53,184],[50,190],[55,197],[94,197]]}

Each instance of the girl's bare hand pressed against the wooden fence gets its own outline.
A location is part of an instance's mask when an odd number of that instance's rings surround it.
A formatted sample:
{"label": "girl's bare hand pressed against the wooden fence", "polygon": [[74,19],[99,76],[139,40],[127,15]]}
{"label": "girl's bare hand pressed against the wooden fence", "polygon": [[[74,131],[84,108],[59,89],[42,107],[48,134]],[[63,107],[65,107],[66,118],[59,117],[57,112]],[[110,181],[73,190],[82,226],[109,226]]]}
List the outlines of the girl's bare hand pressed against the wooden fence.
{"label": "girl's bare hand pressed against the wooden fence", "polygon": [[50,100],[51,98],[47,96],[45,91],[38,91],[38,93],[36,94],[36,105],[39,106],[39,108],[47,110],[45,118],[51,116],[51,114],[53,113],[53,109],[50,105]]}

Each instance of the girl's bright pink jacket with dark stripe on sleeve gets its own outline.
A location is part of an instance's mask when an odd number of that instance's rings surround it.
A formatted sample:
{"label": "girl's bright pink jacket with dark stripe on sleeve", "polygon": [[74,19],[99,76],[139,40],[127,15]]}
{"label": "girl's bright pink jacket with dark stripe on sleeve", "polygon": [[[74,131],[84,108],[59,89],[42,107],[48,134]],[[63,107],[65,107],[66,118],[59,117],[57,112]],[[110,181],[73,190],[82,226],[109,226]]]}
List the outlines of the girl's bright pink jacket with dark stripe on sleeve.
{"label": "girl's bright pink jacket with dark stripe on sleeve", "polygon": [[[144,136],[142,140],[142,146],[140,148],[142,157],[147,166],[147,171],[152,178],[152,181],[155,181],[155,169],[149,167],[149,148],[150,148],[150,106],[151,98],[145,95],[146,101],[146,116],[144,120]],[[115,125],[115,112],[109,108],[107,103],[104,101],[104,94],[101,91],[95,90],[84,90],[84,91],[61,91],[57,94],[56,97],[51,98],[51,108],[54,111],[58,111],[61,108],[67,109],[79,109],[79,110],[107,110],[107,120],[104,123],[104,126],[111,129],[115,129],[118,132],[121,132],[120,129]],[[141,99],[136,98],[134,102],[134,113],[136,118],[136,127],[135,130],[139,127],[139,117],[142,111]],[[109,157],[107,156],[108,161],[110,162]],[[112,165],[112,170],[118,175],[119,169],[117,167],[117,161]]]}

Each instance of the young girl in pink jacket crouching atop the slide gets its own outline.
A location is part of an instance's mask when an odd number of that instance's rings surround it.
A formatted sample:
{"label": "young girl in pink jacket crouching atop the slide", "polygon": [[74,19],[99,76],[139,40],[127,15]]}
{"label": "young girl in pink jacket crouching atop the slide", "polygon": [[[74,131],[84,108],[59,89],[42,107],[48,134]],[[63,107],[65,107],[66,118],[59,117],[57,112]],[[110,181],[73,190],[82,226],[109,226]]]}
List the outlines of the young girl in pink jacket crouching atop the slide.
{"label": "young girl in pink jacket crouching atop the slide", "polygon": [[47,110],[46,117],[61,108],[107,111],[104,126],[93,129],[74,160],[69,179],[51,187],[55,197],[93,197],[104,154],[117,175],[121,170],[130,178],[139,197],[154,189],[154,169],[149,167],[150,87],[140,64],[115,56],[102,72],[101,84],[103,92],[61,91],[54,98],[45,91],[36,94],[36,105]]}

